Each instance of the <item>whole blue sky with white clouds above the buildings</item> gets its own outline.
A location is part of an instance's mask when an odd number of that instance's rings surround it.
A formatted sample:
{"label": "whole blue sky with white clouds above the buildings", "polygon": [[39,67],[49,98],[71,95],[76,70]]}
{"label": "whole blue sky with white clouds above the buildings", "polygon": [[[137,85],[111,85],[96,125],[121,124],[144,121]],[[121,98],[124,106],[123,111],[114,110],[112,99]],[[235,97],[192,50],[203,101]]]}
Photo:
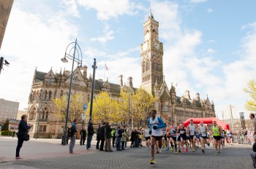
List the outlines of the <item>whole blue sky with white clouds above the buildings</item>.
{"label": "whole blue sky with white clouds above the buildings", "polygon": [[249,96],[246,82],[255,79],[256,1],[247,0],[30,0],[15,1],[0,55],[11,65],[0,76],[0,98],[28,106],[34,69],[58,72],[67,45],[78,39],[83,64],[97,59],[96,78],[124,82],[132,76],[140,87],[140,44],[149,7],[159,21],[164,44],[165,81],[178,83],[177,94],[214,101],[222,117],[227,105],[236,114]]}

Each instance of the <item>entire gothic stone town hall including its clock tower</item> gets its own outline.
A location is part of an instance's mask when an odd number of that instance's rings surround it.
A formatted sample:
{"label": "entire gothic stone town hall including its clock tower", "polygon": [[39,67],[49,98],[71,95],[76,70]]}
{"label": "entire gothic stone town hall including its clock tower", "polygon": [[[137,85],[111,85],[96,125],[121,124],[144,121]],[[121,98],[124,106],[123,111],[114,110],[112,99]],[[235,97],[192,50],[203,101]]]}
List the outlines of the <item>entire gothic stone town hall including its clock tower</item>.
{"label": "entire gothic stone town hall including its clock tower", "polygon": [[[173,84],[170,89],[164,79],[162,58],[164,56],[163,43],[159,42],[159,23],[154,20],[153,15],[148,15],[148,19],[143,23],[144,42],[140,44],[141,57],[141,86],[150,95],[157,99],[154,109],[157,115],[165,122],[171,119],[176,123],[184,122],[190,117],[215,117],[213,101],[208,95],[200,98],[196,93],[195,98],[191,98],[189,90],[183,96],[176,95],[176,88]],[[53,114],[53,99],[68,95],[71,78],[70,71],[64,70],[54,73],[52,69],[48,72],[34,71],[34,77],[29,94],[28,121],[31,125],[30,134],[38,138],[60,138],[64,133],[64,119],[60,120]],[[102,79],[95,80],[94,93],[98,95],[105,91],[111,97],[118,98],[121,90],[128,89],[135,93],[132,77],[129,76],[124,84],[123,76],[118,77],[118,84],[104,82]],[[77,67],[73,71],[71,93],[80,93],[85,97],[87,103],[91,98],[92,77],[87,74],[87,66]],[[128,113],[128,112],[127,112]],[[146,122],[148,115],[142,119]],[[142,125],[145,125],[143,123]]]}

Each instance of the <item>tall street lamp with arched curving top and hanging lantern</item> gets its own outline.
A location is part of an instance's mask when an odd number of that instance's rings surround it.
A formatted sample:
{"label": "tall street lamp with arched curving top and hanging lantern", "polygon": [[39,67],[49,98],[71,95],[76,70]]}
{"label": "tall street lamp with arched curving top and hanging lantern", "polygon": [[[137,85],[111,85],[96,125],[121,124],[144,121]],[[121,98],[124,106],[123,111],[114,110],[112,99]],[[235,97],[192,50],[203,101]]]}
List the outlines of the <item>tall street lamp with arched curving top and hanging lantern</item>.
{"label": "tall street lamp with arched curving top and hanging lantern", "polygon": [[[71,44],[75,44],[75,47],[70,46]],[[74,50],[74,53],[73,53],[73,55],[70,55],[70,52],[72,50]],[[68,51],[68,53],[67,53],[67,51]],[[75,52],[78,53],[78,58],[75,58]],[[67,121],[69,119],[69,101],[70,101],[70,95],[71,95],[74,62],[78,63],[78,66],[82,66],[82,52],[77,43],[77,39],[75,39],[75,42],[72,42],[67,46],[64,58],[61,58],[61,61],[64,63],[67,63],[68,62],[67,58],[72,60],[72,69],[71,69],[70,84],[69,84],[69,98],[67,100],[66,121],[65,121],[65,128],[64,128],[64,141],[62,142],[63,145],[67,144]]]}

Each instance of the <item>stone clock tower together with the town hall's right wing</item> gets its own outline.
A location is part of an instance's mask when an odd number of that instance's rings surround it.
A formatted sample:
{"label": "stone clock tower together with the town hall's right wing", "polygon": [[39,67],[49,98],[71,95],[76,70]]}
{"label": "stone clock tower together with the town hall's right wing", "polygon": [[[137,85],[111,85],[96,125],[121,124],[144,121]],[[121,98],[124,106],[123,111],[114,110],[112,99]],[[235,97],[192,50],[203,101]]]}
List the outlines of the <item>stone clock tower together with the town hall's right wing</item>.
{"label": "stone clock tower together with the town hall's right wing", "polygon": [[214,103],[209,101],[208,96],[201,99],[199,93],[196,93],[195,99],[191,99],[186,90],[184,96],[179,97],[173,84],[168,90],[163,75],[164,50],[163,43],[159,42],[158,28],[159,23],[150,12],[148,20],[143,24],[144,42],[140,44],[141,87],[157,98],[154,106],[158,116],[165,121],[173,119],[176,123],[191,117],[215,117]]}

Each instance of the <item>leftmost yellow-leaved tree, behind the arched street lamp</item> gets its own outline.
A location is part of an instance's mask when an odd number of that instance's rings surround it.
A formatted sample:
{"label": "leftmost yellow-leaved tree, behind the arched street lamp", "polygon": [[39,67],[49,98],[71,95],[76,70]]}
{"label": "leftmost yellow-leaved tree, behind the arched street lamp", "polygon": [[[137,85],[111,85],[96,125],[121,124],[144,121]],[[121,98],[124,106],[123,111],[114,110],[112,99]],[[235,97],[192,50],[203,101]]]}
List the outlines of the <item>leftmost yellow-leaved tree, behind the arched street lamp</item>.
{"label": "leftmost yellow-leaved tree, behind the arched street lamp", "polygon": [[[67,112],[67,96],[63,95],[61,98],[56,98],[53,100],[53,103],[55,105],[53,114],[59,119],[65,119]],[[83,103],[86,103],[86,98],[84,98],[83,95],[80,93],[71,95],[69,101],[69,122],[72,122],[74,119],[82,119]]]}

